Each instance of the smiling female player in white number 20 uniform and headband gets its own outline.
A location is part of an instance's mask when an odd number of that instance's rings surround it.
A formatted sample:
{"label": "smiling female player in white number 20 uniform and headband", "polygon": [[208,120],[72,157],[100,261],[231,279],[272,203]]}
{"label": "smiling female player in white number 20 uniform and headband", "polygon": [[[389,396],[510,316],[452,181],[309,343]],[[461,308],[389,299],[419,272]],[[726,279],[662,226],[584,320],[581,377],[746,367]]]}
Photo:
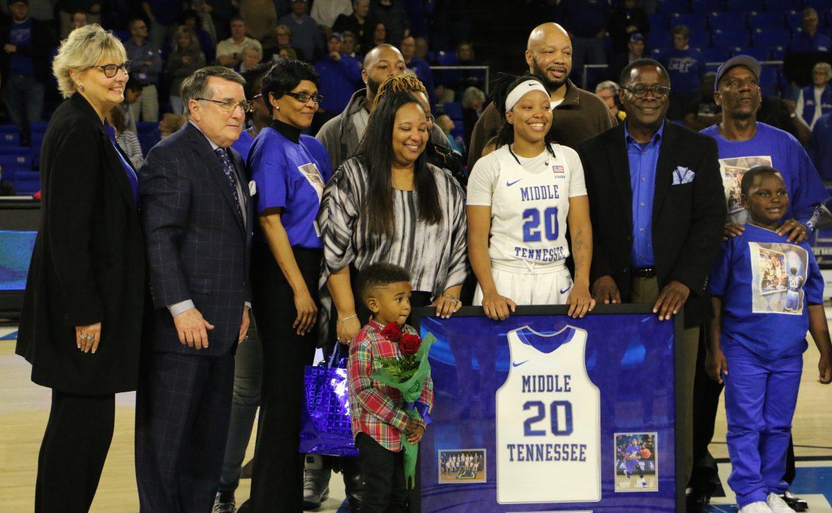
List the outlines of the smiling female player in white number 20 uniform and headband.
{"label": "smiling female player in white number 20 uniform and headband", "polygon": [[[498,149],[477,161],[468,179],[468,257],[478,285],[473,303],[493,319],[518,304],[569,304],[583,317],[589,293],[592,225],[577,152],[550,141],[549,93],[521,76],[496,95],[505,125]],[[575,279],[565,265],[575,259]]]}

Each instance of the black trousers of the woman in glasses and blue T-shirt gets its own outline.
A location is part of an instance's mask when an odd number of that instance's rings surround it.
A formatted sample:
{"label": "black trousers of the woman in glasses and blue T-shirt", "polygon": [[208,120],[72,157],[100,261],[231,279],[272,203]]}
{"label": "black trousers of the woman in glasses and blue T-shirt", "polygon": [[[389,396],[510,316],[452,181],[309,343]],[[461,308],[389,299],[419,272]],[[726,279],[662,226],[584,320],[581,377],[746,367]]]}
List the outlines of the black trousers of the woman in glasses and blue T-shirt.
{"label": "black trousers of the woman in glasses and blue T-shirt", "polygon": [[[323,256],[319,249],[293,248],[312,298],[318,297]],[[298,335],[295,294],[266,244],[251,251],[252,310],[263,351],[263,385],[257,425],[251,506],[258,513],[303,511],[304,458],[298,452],[304,371],[314,358],[315,330]]]}

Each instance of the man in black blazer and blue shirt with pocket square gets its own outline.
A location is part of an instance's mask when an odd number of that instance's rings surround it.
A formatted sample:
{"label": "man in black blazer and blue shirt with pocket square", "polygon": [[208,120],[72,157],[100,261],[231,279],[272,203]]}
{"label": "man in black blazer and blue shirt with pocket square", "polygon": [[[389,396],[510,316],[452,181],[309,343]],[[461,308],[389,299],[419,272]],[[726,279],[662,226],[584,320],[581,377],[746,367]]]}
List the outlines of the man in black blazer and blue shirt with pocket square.
{"label": "man in black blazer and blue shirt with pocket square", "polygon": [[666,122],[670,77],[659,62],[624,68],[619,92],[626,122],[578,149],[592,216],[592,295],[598,303],[651,303],[661,320],[685,307],[684,372],[676,378],[685,400],[681,430],[691,473],[693,377],[699,327],[713,312],[706,296],[711,263],[726,216],[716,143]]}

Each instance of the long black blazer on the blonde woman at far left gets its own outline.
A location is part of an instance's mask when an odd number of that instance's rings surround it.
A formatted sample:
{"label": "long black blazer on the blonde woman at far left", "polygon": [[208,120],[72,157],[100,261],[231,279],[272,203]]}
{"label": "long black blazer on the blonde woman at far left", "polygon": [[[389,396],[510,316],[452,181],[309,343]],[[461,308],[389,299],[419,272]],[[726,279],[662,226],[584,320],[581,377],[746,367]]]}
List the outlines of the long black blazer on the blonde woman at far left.
{"label": "long black blazer on the blonde woman at far left", "polygon": [[[32,363],[32,381],[44,387],[136,390],[145,297],[138,207],[101,119],[80,94],[49,121],[41,188],[17,354]],[[75,327],[99,322],[97,353],[81,353]]]}

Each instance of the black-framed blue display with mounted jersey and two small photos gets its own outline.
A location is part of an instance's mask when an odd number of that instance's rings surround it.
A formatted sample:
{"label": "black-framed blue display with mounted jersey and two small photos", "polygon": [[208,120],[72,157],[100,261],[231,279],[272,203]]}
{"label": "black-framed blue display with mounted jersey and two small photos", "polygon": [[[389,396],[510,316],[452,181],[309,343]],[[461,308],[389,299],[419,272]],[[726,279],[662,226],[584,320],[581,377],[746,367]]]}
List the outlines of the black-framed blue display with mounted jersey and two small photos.
{"label": "black-framed blue display with mounted jersey and two small photos", "polygon": [[[436,317],[435,308],[414,309],[414,327],[423,337],[428,333],[437,337],[429,357],[435,394],[433,422],[420,447],[421,511],[684,511],[686,483],[681,481],[686,472],[681,471],[681,459],[676,457],[684,448],[676,436],[676,426],[681,422],[676,404],[684,402],[675,377],[681,375],[683,364],[694,363],[682,361],[683,352],[675,343],[682,340],[683,313],[672,321],[659,321],[649,304],[598,305],[586,317],[573,319],[567,316],[567,310],[562,305],[518,307],[510,318],[493,321],[479,307],[463,307],[447,319]],[[532,417],[533,409],[521,412],[519,417],[514,414],[507,417],[497,411],[495,394],[509,376],[508,333],[524,338],[522,342],[514,342],[515,347],[518,343],[534,345],[541,353],[557,357],[553,352],[567,346],[566,342],[557,340],[561,337],[557,334],[564,329],[570,333],[586,333],[583,364],[587,377],[600,392],[600,426],[584,431],[597,431],[600,454],[597,474],[593,474],[592,461],[577,461],[577,456],[572,455],[576,461],[543,458],[532,463],[530,460],[527,465],[536,465],[538,469],[542,468],[540,461],[549,461],[552,466],[545,468],[552,470],[532,472],[524,479],[537,480],[540,486],[556,490],[551,496],[569,495],[572,491],[559,489],[558,483],[553,482],[557,480],[550,476],[568,476],[558,472],[574,464],[579,472],[588,472],[587,476],[600,481],[600,499],[518,502],[517,494],[506,491],[507,486],[499,486],[497,476],[501,464],[504,469],[523,468],[511,461],[514,456],[522,457],[520,445],[501,444],[498,451],[497,432],[505,432],[507,423],[522,423],[522,430],[530,430],[522,431],[518,427],[522,435],[542,435],[542,427],[547,424],[535,423],[538,418]],[[529,333],[531,342],[526,340]],[[551,340],[548,336],[552,336]],[[517,335],[513,337],[519,340]],[[566,338],[563,340],[568,342]],[[547,344],[551,347],[545,347]],[[549,390],[557,390],[557,377],[552,382],[554,388]],[[582,401],[581,392],[570,392],[573,401]],[[503,400],[503,404],[509,403]],[[562,412],[560,415],[563,418]],[[552,430],[565,432],[563,427],[554,426]],[[580,430],[582,427],[574,426],[570,432]],[[632,457],[621,456],[622,447],[617,443],[636,435],[641,437],[636,446],[651,446],[653,450],[643,451],[641,447],[636,456],[638,466],[628,466],[626,460]],[[519,442],[561,440],[548,436],[521,438]],[[523,447],[528,449],[530,445],[524,443]],[[537,451],[540,446],[535,445]],[[537,456],[541,454],[538,452]],[[650,456],[642,457],[647,454]],[[625,479],[623,470],[629,467],[631,477]],[[638,476],[639,467],[645,476]],[[505,470],[501,475],[507,475]],[[563,477],[562,481],[569,479]],[[641,482],[648,484],[641,486]],[[498,489],[503,490],[503,502],[498,501]],[[592,492],[587,496],[592,496]]]}

